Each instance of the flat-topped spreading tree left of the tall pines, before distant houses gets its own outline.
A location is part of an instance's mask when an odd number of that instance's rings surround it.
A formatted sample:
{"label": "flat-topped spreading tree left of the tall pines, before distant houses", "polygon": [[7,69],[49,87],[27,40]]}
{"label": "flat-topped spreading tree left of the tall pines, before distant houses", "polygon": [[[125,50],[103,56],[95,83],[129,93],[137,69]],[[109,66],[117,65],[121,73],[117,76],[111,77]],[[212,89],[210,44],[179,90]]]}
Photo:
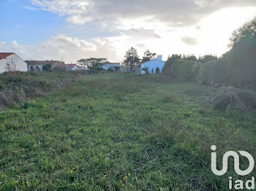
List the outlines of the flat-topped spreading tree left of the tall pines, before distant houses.
{"label": "flat-topped spreading tree left of the tall pines, before distant houses", "polygon": [[107,58],[83,58],[78,61],[80,65],[86,68],[86,66],[94,71],[103,70],[102,66],[108,63]]}

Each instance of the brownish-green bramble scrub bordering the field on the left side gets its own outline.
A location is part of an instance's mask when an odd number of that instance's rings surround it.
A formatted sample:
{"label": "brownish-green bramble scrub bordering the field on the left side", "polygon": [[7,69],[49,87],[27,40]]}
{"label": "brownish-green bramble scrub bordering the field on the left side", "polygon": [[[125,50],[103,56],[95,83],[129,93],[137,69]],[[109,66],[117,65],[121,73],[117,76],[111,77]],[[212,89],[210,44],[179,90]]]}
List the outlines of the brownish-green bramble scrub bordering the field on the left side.
{"label": "brownish-green bramble scrub bordering the field on the left side", "polygon": [[[75,73],[8,72],[0,75],[0,110],[16,105],[52,90],[57,90],[75,79]],[[80,74],[79,74],[80,75]]]}

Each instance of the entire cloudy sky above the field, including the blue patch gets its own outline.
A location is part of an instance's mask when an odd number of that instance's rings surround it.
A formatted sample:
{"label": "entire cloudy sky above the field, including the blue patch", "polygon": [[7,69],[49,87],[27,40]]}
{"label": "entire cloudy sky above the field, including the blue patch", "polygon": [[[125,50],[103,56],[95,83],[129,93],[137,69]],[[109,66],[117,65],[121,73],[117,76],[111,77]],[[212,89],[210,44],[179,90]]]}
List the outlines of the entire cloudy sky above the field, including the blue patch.
{"label": "entire cloudy sky above the field, including the blue patch", "polygon": [[255,0],[0,0],[0,52],[23,60],[124,60],[130,47],[221,56]]}

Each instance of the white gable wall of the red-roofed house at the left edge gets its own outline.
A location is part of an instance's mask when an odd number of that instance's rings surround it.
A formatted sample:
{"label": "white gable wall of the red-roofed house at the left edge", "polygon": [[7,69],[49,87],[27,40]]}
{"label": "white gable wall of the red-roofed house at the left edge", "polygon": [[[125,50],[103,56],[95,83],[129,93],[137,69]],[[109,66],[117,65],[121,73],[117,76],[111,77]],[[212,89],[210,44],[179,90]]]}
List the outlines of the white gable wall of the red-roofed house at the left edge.
{"label": "white gable wall of the red-roofed house at the left edge", "polygon": [[7,63],[12,63],[12,62],[14,62],[13,65],[11,64],[11,68],[13,71],[28,71],[27,63],[24,62],[17,55],[12,54],[12,55],[8,56],[7,58],[2,59],[0,61],[0,74],[7,71],[7,68],[6,68]]}

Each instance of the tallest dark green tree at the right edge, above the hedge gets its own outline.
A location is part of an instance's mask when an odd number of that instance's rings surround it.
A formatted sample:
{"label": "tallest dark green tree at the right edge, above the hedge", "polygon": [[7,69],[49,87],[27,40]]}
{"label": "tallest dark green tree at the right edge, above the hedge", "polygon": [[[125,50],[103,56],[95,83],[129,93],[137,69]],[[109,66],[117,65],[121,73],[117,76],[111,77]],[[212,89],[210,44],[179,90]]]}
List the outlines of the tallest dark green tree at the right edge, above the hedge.
{"label": "tallest dark green tree at the right edge, above the hedge", "polygon": [[233,32],[229,47],[236,84],[256,86],[256,17]]}

